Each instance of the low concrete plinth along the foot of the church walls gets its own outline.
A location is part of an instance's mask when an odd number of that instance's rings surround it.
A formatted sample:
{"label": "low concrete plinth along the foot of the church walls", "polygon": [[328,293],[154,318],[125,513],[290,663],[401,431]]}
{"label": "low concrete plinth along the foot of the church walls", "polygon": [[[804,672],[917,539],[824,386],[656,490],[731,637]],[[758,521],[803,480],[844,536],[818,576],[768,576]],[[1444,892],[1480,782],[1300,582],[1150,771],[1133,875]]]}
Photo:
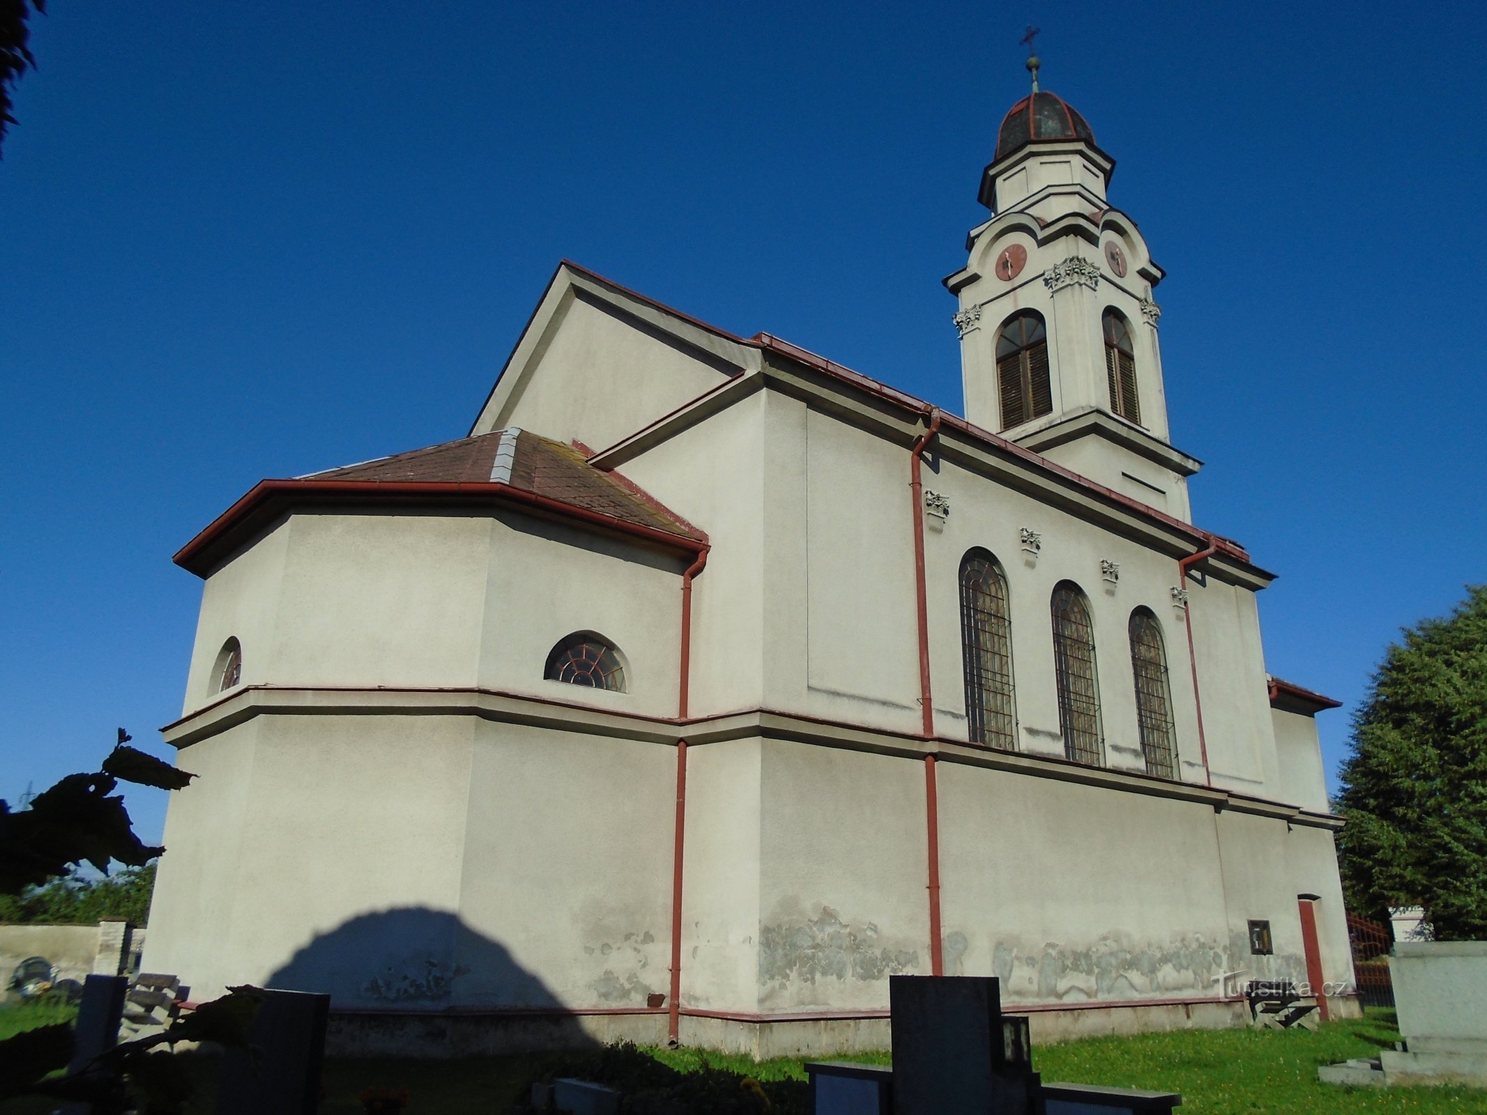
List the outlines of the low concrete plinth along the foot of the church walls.
{"label": "low concrete plinth along the foot of the church walls", "polygon": [[[1216,1030],[1249,1024],[1243,1002],[1145,1003],[1132,1006],[1033,1008],[1028,1014],[1038,1045],[1154,1030]],[[480,1057],[546,1050],[581,1050],[619,1041],[666,1044],[665,1011],[614,1014],[332,1012],[326,1033],[330,1057]],[[830,1057],[889,1048],[888,1012],[867,1017],[681,1017],[681,1044],[769,1057]]]}

